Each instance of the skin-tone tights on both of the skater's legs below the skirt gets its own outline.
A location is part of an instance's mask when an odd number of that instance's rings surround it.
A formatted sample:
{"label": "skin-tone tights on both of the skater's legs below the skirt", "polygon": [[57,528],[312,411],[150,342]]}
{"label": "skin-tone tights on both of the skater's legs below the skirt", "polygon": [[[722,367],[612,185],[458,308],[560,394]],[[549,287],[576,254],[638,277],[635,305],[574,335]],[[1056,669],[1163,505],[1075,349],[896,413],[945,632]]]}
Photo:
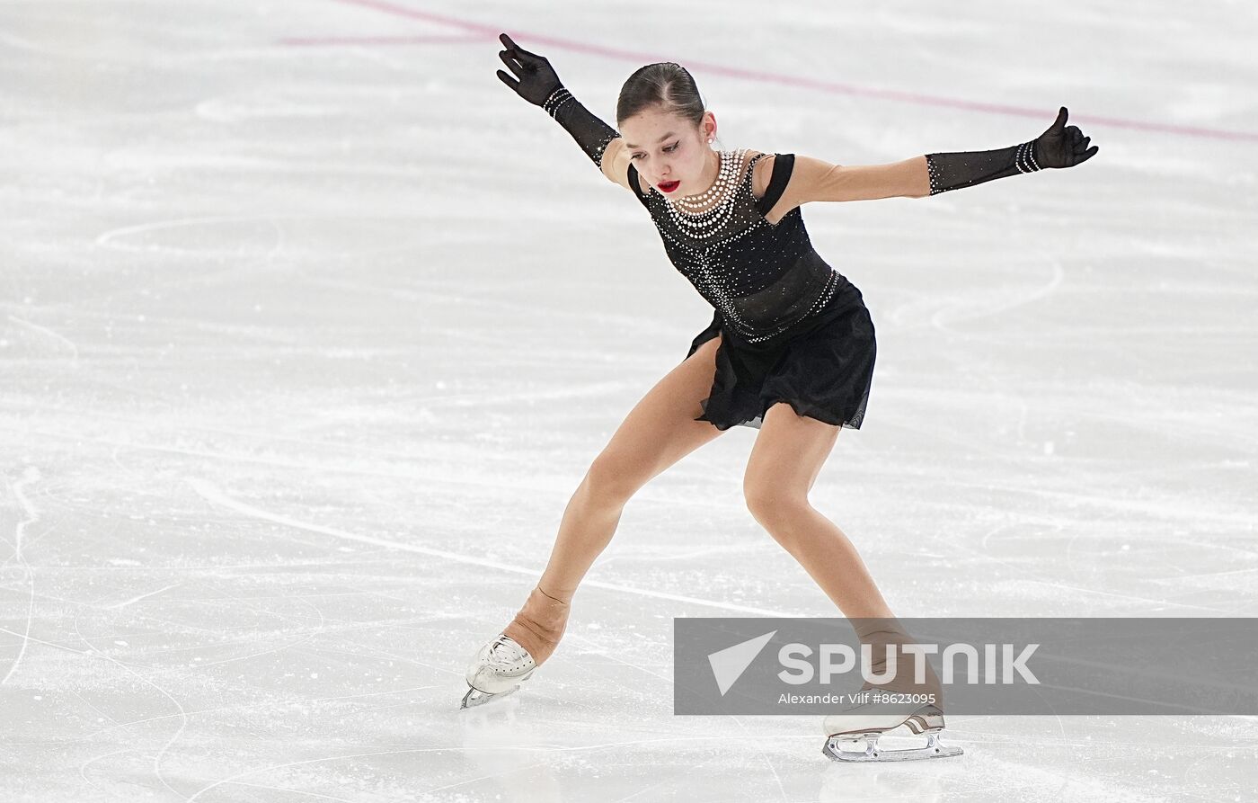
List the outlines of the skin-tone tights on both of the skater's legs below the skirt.
{"label": "skin-tone tights on both of the skater's legs below the skirt", "polygon": [[[504,631],[541,665],[567,623],[569,603],[611,541],[629,498],[648,481],[722,430],[702,414],[716,371],[720,336],[664,375],[629,412],[594,459],[564,511],[550,563]],[[765,413],[743,476],[751,515],[848,618],[892,618],[887,602],[848,537],[814,508],[808,493],[839,427],[798,415],[786,403]]]}

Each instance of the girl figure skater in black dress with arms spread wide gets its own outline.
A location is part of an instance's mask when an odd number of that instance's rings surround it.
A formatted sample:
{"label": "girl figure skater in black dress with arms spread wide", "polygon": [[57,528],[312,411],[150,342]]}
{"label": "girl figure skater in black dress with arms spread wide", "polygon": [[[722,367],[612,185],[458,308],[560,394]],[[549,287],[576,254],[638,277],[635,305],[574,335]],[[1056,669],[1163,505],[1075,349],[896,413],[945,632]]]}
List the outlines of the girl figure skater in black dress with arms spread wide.
{"label": "girl figure skater in black dress with arms spread wide", "polygon": [[[473,657],[463,707],[511,694],[554,653],[577,585],[606,548],[629,498],[653,477],[735,425],[759,429],[743,477],[747,507],[874,646],[876,673],[911,643],[848,537],[808,493],[842,428],[859,429],[873,379],[874,327],[860,291],[813,249],[808,201],[926,198],[993,179],[1072,167],[1099,150],[1067,110],[1035,140],[1005,149],[928,154],[886,165],[833,165],[795,154],[715,150],[716,117],[691,73],[671,62],[634,72],[620,89],[620,131],[590,113],[550,62],[507,34],[498,78],[542,107],[603,175],[650,213],[664,250],[713,307],[686,359],[629,412],[564,511],[537,585],[515,619]],[[623,136],[621,136],[623,132]],[[879,647],[882,652],[879,652]],[[889,649],[889,652],[887,652]],[[882,658],[879,660],[879,656]],[[933,705],[868,704],[825,717],[823,750],[839,760],[957,755],[944,748],[942,694]],[[879,734],[927,734],[916,750],[879,750]],[[842,743],[863,744],[844,750]]]}

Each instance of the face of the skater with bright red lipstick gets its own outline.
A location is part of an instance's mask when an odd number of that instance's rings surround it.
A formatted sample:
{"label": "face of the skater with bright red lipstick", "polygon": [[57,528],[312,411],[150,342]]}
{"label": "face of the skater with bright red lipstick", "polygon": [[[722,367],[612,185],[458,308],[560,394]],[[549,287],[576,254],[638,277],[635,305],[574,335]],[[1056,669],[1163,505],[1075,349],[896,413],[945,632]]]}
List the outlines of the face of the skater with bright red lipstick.
{"label": "face of the skater with bright red lipstick", "polygon": [[704,112],[697,128],[676,115],[640,112],[620,122],[620,133],[633,166],[664,195],[697,195],[716,180],[712,112]]}

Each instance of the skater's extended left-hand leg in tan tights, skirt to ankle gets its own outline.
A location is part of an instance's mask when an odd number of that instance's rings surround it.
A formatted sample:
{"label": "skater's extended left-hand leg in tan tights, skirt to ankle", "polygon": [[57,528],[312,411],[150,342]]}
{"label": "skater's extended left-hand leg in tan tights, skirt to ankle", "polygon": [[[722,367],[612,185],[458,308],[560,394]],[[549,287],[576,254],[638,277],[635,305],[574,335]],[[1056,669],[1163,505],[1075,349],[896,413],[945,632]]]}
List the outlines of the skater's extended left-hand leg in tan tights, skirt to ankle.
{"label": "skater's extended left-hand leg in tan tights, skirt to ankle", "polygon": [[694,420],[712,389],[720,335],[664,375],[595,457],[564,510],[546,570],[504,631],[540,666],[559,644],[581,578],[611,541],[625,502],[648,481],[722,433]]}

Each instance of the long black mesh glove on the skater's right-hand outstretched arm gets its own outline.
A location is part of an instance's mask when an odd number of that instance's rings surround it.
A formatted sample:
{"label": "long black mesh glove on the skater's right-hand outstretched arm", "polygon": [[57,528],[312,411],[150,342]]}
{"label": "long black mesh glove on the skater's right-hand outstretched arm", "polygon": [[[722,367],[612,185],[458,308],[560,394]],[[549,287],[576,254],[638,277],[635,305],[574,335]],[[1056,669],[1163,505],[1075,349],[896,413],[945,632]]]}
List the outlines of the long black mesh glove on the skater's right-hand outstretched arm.
{"label": "long black mesh glove on the skater's right-hand outstretched arm", "polygon": [[1066,126],[1068,113],[1063,106],[1044,133],[1021,145],[995,151],[927,154],[931,195],[1044,167],[1073,167],[1092,159],[1101,149],[1096,145],[1089,149],[1092,137],[1083,136],[1078,126]]}

